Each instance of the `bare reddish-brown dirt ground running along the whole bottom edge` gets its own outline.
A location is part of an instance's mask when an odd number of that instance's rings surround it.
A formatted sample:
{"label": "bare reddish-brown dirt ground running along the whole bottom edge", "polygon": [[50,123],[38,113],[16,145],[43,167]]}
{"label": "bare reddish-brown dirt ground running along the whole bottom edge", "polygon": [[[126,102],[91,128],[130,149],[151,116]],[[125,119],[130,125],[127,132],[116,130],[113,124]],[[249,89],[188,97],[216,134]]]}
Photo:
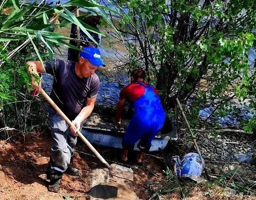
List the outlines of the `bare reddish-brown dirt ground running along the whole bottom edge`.
{"label": "bare reddish-brown dirt ground running along the whole bottom edge", "polygon": [[[48,165],[52,141],[49,131],[34,131],[25,137],[12,137],[11,141],[0,141],[0,200],[88,200],[88,173],[92,169],[104,168],[98,158],[79,141],[74,165],[80,169],[79,177],[64,174],[59,193],[48,192],[45,169]],[[119,162],[119,149],[96,147],[107,160]],[[83,152],[83,153],[81,153]],[[130,160],[134,155],[130,155]],[[166,169],[164,162],[156,155],[147,155],[144,164],[129,163],[134,170],[134,182],[130,188],[141,200],[148,200],[154,192],[160,193],[164,186]],[[172,181],[172,180],[169,180]],[[163,183],[163,184],[162,184]],[[166,182],[165,182],[166,183]],[[169,186],[172,187],[172,186]],[[180,200],[180,192],[169,188],[170,192],[160,196],[162,200]],[[204,187],[190,188],[187,200],[255,200],[254,197],[223,196],[222,189],[209,190]],[[187,192],[187,191],[184,191]],[[212,192],[211,196],[207,192]],[[155,196],[156,199],[157,196]]]}

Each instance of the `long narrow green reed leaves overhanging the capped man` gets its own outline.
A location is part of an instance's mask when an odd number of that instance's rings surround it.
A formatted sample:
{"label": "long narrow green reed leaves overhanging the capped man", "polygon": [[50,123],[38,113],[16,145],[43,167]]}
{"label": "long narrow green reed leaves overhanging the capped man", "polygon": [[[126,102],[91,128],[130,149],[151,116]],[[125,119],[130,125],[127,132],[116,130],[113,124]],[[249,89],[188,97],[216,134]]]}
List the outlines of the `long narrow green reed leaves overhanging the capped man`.
{"label": "long narrow green reed leaves overhanging the capped man", "polygon": [[[36,1],[35,1],[36,2]],[[85,16],[81,16],[76,18],[72,12],[68,9],[71,6],[77,5],[77,0],[69,0],[65,4],[56,5],[53,8],[49,7],[36,7],[35,2],[33,4],[24,4],[22,8],[19,8],[20,5],[17,4],[16,1],[11,0],[4,0],[3,7],[0,8],[0,38],[1,41],[11,41],[11,40],[26,40],[32,44],[35,44],[35,40],[39,40],[43,42],[49,51],[50,59],[52,60],[52,52],[53,52],[53,45],[52,44],[60,44],[64,45],[65,47],[71,47],[76,49],[76,47],[70,45],[69,43],[65,42],[65,40],[69,40],[69,37],[60,35],[56,32],[52,32],[52,30],[56,27],[66,27],[72,23],[78,25],[85,34],[88,35],[89,38],[92,39],[92,36],[88,33],[88,31],[96,32],[100,35],[105,36],[103,33],[97,31],[96,29],[84,24],[82,20]],[[7,6],[10,6],[8,8]],[[112,11],[111,9],[96,4],[94,1],[84,1],[83,4],[79,4],[80,8],[91,10],[91,7],[99,7],[100,12],[97,13],[98,15],[102,16],[102,21],[109,26],[112,26],[114,29],[115,27],[112,25],[111,21],[108,19],[105,10]],[[12,12],[8,14],[8,17],[4,14],[4,8],[10,9]],[[32,10],[36,9],[36,12],[33,15],[30,15]],[[95,11],[92,11],[95,12]],[[115,11],[112,11],[115,12]],[[56,24],[54,19],[49,20],[49,16],[53,14],[58,14],[57,20],[61,20],[60,24]],[[31,22],[35,22],[36,24],[32,24]],[[92,39],[94,40],[94,39]],[[29,42],[28,41],[28,42]],[[25,43],[28,43],[27,41]],[[25,45],[24,45],[25,46]],[[21,47],[23,48],[23,47]],[[37,47],[33,45],[34,50],[40,60],[40,52],[37,50]],[[16,53],[17,51],[14,51]],[[13,53],[8,54],[8,58],[12,58]]]}

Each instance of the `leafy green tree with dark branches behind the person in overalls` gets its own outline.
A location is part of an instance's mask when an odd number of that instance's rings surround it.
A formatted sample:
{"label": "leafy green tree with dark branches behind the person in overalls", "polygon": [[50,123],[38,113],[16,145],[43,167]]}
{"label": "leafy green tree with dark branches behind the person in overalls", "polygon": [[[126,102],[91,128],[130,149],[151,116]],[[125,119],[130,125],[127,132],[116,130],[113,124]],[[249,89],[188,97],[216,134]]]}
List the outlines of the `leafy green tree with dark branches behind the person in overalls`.
{"label": "leafy green tree with dark branches behind the person in overalls", "polygon": [[[250,96],[256,108],[256,75],[248,65],[248,50],[256,44],[252,1],[130,0],[126,6],[133,24],[126,17],[120,29],[126,31],[124,38],[129,33],[136,39],[126,40],[128,71],[147,71],[166,110],[175,107],[176,97],[183,103],[191,100],[186,113],[197,126],[202,106],[213,106],[216,115],[224,116],[234,102]],[[251,123],[246,131],[252,130]]]}

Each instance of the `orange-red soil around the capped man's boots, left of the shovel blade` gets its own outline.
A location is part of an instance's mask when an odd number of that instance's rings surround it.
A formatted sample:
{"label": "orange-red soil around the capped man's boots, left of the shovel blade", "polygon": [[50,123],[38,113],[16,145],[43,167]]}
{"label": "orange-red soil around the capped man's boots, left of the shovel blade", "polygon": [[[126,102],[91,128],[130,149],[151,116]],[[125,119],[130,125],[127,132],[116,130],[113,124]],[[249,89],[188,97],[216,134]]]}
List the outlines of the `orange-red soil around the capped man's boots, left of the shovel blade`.
{"label": "orange-red soil around the capped man's boots, left of the shovel blade", "polygon": [[85,195],[89,188],[83,178],[84,167],[80,168],[81,177],[63,176],[60,193],[48,192],[45,169],[51,145],[48,136],[37,133],[26,135],[25,142],[0,141],[0,200],[60,200],[63,195]]}

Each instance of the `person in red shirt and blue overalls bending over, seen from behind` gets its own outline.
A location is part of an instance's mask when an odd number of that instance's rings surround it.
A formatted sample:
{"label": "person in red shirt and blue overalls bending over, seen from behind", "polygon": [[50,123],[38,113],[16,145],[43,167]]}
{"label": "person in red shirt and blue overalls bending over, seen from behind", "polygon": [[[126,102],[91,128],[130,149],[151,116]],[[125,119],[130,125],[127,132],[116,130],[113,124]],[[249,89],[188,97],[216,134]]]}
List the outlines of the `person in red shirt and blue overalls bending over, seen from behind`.
{"label": "person in red shirt and blue overalls bending over, seen from behind", "polygon": [[165,113],[160,98],[155,88],[145,83],[145,74],[142,69],[132,71],[131,84],[124,87],[120,93],[116,123],[121,124],[121,114],[126,100],[132,102],[135,111],[122,141],[123,161],[128,160],[128,150],[133,150],[135,143],[140,140],[137,162],[142,162],[144,153],[149,151],[152,140],[164,125]]}

